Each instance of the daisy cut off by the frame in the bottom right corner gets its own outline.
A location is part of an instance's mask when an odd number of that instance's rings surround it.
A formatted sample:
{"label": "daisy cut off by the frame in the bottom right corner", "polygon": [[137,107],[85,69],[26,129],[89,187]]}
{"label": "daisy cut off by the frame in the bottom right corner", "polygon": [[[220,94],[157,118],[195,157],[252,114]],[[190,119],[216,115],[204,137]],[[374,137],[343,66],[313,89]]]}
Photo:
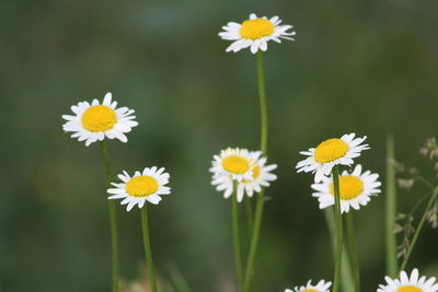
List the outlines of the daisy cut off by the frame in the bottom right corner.
{"label": "daisy cut off by the frame in the bottom right corner", "polygon": [[437,292],[438,283],[435,283],[435,277],[426,279],[425,276],[418,279],[418,270],[414,269],[411,272],[411,278],[406,272],[400,273],[400,279],[391,279],[384,277],[387,285],[380,284],[377,292]]}

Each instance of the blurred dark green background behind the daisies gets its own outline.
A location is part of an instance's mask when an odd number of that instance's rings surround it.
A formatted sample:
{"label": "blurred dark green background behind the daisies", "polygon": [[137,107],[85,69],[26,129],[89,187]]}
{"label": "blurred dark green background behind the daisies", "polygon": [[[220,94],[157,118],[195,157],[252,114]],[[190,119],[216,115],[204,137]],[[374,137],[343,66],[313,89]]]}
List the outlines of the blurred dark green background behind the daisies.
{"label": "blurred dark green background behind the daisies", "polygon": [[[251,12],[278,14],[297,31],[297,42],[265,54],[279,179],[267,191],[260,291],[331,279],[326,224],[310,196],[313,177],[293,170],[298,151],[367,135],[372,149],[359,161],[384,174],[393,132],[397,159],[438,183],[418,154],[437,133],[437,9],[426,0],[1,1],[0,291],[108,291],[99,147],[61,130],[72,104],[107,91],[140,124],[127,144],[107,142],[114,172],[159,165],[172,174],[172,196],[150,210],[160,278],[178,270],[195,292],[234,291],[230,201],[208,168],[223,148],[258,145],[255,58],[226,54],[217,36]],[[400,191],[399,210],[424,192]],[[384,194],[356,212],[366,292],[383,281],[383,210]],[[119,208],[118,218],[129,285],[145,278],[140,213]],[[438,276],[437,243],[425,229],[410,269]]]}

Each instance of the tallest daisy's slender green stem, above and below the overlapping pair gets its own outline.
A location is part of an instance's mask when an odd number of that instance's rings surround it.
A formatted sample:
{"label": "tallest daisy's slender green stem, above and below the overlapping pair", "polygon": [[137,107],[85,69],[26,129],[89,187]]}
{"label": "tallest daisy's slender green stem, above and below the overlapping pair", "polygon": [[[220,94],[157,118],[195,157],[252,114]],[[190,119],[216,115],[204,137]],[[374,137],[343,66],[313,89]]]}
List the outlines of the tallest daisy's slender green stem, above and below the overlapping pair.
{"label": "tallest daisy's slender green stem, above and below the overlapping pair", "polygon": [[[267,102],[265,92],[265,74],[263,68],[263,52],[257,52],[257,79],[258,79],[258,98],[261,108],[261,150],[263,155],[267,154],[267,133],[268,133],[268,116]],[[257,202],[255,206],[254,230],[252,232],[250,254],[246,262],[245,278],[243,292],[249,292],[251,282],[254,277],[255,261],[258,249],[260,229],[262,225],[263,206],[265,202],[264,190],[258,192]]]}

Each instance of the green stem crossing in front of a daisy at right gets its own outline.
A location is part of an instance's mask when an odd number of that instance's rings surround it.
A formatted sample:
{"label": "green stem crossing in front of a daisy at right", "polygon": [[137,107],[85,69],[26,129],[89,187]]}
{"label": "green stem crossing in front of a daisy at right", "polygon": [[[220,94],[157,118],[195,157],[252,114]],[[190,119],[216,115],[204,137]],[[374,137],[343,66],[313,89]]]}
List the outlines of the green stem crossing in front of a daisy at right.
{"label": "green stem crossing in front of a daisy at right", "polygon": [[335,165],[332,170],[334,197],[335,197],[335,220],[336,220],[336,257],[335,257],[335,273],[333,280],[333,292],[339,291],[342,254],[344,244],[344,231],[341,213],[341,197],[339,197],[339,168]]}

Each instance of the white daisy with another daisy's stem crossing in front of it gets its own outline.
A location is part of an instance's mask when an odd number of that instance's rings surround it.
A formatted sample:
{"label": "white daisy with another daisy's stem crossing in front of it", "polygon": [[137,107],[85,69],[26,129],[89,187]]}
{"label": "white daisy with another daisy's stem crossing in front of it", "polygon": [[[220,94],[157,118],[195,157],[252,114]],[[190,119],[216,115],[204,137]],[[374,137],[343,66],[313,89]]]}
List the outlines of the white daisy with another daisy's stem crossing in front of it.
{"label": "white daisy with another daisy's stem crossing in front of it", "polygon": [[[362,173],[360,164],[351,173],[344,171],[339,176],[341,212],[348,212],[350,207],[359,210],[360,206],[366,206],[371,200],[371,196],[377,196],[381,186],[378,178],[379,175],[371,174],[370,171]],[[318,191],[312,196],[320,201],[320,209],[335,203],[333,177],[323,176],[320,184],[312,185],[312,189]]]}

